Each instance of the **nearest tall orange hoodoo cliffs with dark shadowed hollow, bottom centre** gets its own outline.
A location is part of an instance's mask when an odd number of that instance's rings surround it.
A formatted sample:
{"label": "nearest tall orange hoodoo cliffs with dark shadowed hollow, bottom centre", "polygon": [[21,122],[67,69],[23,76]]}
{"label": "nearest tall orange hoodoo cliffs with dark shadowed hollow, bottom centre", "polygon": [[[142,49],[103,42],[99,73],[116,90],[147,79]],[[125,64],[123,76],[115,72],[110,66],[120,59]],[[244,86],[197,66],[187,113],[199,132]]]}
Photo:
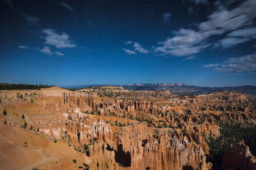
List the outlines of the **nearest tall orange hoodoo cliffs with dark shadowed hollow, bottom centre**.
{"label": "nearest tall orange hoodoo cliffs with dark shadowed hollow, bottom centre", "polygon": [[[89,145],[88,155],[95,160],[111,160],[128,169],[182,169],[185,166],[196,169],[203,162],[202,147],[175,131],[150,132],[152,129],[142,123],[121,127],[113,133],[109,124],[79,115],[75,113],[71,117],[82,122],[68,122],[68,132],[76,134],[72,141]],[[94,138],[100,142],[90,143]],[[102,164],[102,167],[105,166]]]}

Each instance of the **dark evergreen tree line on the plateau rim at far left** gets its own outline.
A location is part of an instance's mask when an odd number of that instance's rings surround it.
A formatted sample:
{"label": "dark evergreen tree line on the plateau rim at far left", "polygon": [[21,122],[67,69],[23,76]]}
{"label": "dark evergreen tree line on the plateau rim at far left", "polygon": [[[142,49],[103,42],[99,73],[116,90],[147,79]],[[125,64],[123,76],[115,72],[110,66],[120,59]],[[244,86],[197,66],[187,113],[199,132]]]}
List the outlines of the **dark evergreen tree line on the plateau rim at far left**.
{"label": "dark evergreen tree line on the plateau rim at far left", "polygon": [[0,90],[26,90],[26,89],[42,89],[52,87],[53,85],[28,85],[28,84],[10,84],[0,83]]}

